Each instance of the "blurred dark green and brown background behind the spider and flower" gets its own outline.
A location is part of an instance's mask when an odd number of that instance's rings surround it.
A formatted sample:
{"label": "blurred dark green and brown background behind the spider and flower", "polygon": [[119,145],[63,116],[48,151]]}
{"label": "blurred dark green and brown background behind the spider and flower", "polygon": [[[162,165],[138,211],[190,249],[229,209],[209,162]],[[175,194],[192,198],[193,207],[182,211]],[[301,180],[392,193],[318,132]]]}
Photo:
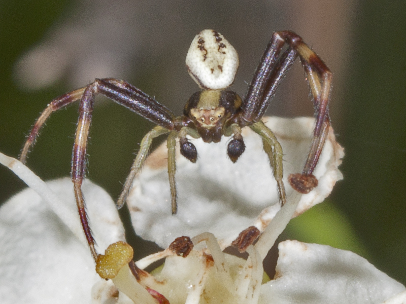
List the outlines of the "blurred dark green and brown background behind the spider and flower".
{"label": "blurred dark green and brown background behind the spider and flower", "polygon": [[[234,89],[244,95],[271,33],[291,29],[334,72],[331,117],[346,156],[341,166],[344,180],[328,202],[294,219],[283,238],[355,251],[405,284],[405,15],[404,1],[2,1],[0,151],[17,157],[47,103],[95,77],[126,79],[181,113],[197,89],[184,58],[193,36],[204,28],[217,29],[239,51]],[[64,37],[66,45],[61,42]],[[69,58],[58,61],[49,56],[49,67],[39,64],[42,73],[57,73],[53,81],[36,85],[41,77],[30,74],[22,58],[50,45],[69,49]],[[125,52],[131,47],[133,53]],[[109,73],[110,55],[116,54],[119,63],[113,62]],[[91,59],[105,64],[101,72],[88,65]],[[300,64],[290,74],[269,113],[311,115]],[[28,159],[28,166],[43,179],[69,175],[76,121],[73,105],[55,113],[43,129]],[[88,149],[89,176],[113,198],[151,127],[113,102],[98,102]],[[0,167],[0,202],[22,187],[16,176]],[[147,252],[156,249],[146,243],[141,247]]]}

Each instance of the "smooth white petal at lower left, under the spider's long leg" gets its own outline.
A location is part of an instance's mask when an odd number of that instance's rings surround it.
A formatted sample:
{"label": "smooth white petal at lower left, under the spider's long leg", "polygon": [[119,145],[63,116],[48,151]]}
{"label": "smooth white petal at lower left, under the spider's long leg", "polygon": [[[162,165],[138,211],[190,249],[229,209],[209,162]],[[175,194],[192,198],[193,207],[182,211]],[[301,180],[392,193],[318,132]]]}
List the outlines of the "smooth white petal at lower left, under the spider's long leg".
{"label": "smooth white petal at lower left, under the spider's long leg", "polygon": [[[76,210],[69,178],[47,182],[68,209]],[[124,239],[114,202],[85,181],[83,191],[95,239],[104,248]],[[76,220],[79,223],[77,211]],[[0,209],[0,299],[5,303],[90,303],[101,279],[89,248],[28,188]]]}

